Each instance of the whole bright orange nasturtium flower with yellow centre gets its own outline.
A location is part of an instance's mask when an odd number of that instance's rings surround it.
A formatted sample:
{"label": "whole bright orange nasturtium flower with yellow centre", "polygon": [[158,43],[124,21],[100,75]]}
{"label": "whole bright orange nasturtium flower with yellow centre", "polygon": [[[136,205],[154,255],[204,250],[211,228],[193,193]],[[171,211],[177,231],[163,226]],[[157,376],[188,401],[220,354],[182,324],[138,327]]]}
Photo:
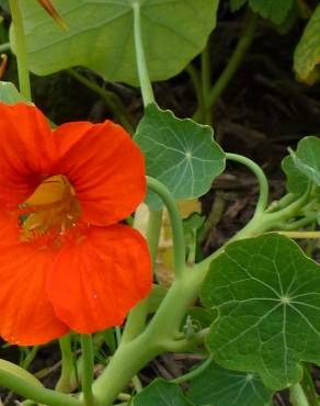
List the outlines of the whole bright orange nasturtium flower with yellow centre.
{"label": "whole bright orange nasturtium flower with yellow centre", "polygon": [[144,200],[138,146],[117,124],[52,131],[0,103],[0,336],[44,343],[121,325],[151,289],[147,244],[123,221]]}

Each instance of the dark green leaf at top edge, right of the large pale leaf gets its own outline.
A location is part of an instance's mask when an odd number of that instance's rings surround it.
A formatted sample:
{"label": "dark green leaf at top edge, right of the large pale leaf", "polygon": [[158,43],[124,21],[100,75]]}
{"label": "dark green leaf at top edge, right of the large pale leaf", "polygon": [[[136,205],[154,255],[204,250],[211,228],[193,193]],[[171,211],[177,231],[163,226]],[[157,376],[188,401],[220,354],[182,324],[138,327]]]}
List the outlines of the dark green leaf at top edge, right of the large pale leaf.
{"label": "dark green leaf at top edge, right of the large pale leaf", "polygon": [[240,9],[248,1],[254,12],[275,24],[283,23],[294,7],[294,0],[230,0],[231,10]]}

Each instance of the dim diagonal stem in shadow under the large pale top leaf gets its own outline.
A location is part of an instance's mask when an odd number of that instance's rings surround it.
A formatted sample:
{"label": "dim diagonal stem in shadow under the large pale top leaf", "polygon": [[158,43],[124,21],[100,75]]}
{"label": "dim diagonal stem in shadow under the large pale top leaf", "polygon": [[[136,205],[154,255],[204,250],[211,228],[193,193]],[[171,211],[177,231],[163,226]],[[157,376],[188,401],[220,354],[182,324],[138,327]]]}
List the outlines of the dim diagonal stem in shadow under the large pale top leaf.
{"label": "dim diagonal stem in shadow under the large pale top leaf", "polygon": [[85,86],[88,89],[92,90],[96,94],[101,97],[102,100],[104,100],[107,108],[112,111],[112,113],[117,117],[119,123],[130,133],[134,134],[134,120],[124,106],[121,98],[118,98],[117,94],[114,92],[101,88],[99,84],[93,82],[92,80],[85,78],[85,76],[79,74],[75,69],[68,69],[68,75],[70,75],[72,78],[78,80],[80,83]]}

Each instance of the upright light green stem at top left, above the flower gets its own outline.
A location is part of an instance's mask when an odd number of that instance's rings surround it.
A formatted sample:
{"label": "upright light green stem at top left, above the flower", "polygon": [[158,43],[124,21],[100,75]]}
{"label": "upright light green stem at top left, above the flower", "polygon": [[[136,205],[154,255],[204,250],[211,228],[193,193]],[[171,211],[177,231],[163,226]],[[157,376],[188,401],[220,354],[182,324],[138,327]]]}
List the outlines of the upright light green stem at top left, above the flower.
{"label": "upright light green stem at top left, above the flower", "polygon": [[32,98],[31,98],[30,74],[27,69],[25,37],[22,15],[19,7],[19,0],[9,0],[9,4],[12,15],[12,24],[14,27],[15,55],[18,61],[18,77],[20,92],[25,99],[31,101]]}

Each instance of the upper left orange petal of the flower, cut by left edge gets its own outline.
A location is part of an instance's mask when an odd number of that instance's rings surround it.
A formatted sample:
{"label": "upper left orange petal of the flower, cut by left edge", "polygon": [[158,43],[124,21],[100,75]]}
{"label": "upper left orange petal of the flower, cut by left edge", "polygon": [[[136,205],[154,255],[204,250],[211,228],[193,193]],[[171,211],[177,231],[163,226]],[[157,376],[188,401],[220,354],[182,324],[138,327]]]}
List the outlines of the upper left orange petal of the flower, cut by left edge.
{"label": "upper left orange petal of the flower, cut by left edge", "polygon": [[0,202],[22,203],[54,170],[52,131],[35,106],[0,103]]}

